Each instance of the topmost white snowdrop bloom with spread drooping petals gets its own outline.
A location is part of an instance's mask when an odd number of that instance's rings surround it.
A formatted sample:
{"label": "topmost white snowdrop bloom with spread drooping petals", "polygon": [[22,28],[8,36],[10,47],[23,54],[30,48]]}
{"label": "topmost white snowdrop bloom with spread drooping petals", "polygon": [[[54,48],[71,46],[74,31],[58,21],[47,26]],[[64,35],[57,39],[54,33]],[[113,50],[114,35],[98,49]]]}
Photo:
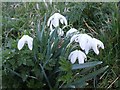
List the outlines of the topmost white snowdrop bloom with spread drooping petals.
{"label": "topmost white snowdrop bloom with spread drooping petals", "polygon": [[53,26],[54,27],[59,26],[59,20],[60,20],[60,22],[62,24],[65,23],[65,25],[67,25],[66,18],[63,15],[59,14],[59,13],[55,13],[48,19],[47,26],[50,26],[50,29],[52,30]]}

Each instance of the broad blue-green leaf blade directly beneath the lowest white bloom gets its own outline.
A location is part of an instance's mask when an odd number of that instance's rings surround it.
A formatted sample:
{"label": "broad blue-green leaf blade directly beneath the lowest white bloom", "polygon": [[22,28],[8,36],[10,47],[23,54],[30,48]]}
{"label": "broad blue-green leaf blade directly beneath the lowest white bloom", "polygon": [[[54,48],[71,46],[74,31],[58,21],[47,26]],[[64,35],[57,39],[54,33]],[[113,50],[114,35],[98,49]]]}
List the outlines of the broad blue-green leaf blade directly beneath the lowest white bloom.
{"label": "broad blue-green leaf blade directly beneath the lowest white bloom", "polygon": [[93,61],[93,62],[87,62],[87,63],[83,63],[83,64],[74,64],[72,66],[72,70],[93,67],[93,66],[99,65],[101,63],[102,63],[102,61]]}

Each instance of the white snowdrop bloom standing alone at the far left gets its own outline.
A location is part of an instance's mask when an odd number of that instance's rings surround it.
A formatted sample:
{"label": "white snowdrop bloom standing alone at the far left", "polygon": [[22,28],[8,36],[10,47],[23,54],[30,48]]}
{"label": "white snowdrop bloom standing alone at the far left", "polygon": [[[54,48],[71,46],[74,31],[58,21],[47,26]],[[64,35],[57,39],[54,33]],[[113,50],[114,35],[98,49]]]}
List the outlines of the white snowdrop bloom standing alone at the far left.
{"label": "white snowdrop bloom standing alone at the far left", "polygon": [[23,37],[18,41],[18,49],[21,50],[24,46],[24,44],[28,44],[28,48],[32,50],[33,48],[33,38],[28,35],[23,35]]}

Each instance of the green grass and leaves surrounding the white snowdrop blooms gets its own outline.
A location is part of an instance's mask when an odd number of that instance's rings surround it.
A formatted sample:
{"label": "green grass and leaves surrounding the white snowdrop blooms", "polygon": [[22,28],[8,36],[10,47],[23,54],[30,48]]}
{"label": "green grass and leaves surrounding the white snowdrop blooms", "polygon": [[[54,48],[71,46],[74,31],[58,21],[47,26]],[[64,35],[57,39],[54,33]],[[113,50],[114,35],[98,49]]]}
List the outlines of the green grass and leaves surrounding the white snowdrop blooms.
{"label": "green grass and leaves surrounding the white snowdrop blooms", "polygon": [[[105,49],[99,55],[90,52],[83,64],[71,64],[68,55],[78,47],[67,47],[70,39],[56,31],[49,34],[47,21],[55,12],[68,20],[65,33],[74,27],[101,40]],[[119,89],[119,14],[117,3],[2,3],[3,88]],[[34,38],[32,51],[27,45],[17,48],[25,34]]]}

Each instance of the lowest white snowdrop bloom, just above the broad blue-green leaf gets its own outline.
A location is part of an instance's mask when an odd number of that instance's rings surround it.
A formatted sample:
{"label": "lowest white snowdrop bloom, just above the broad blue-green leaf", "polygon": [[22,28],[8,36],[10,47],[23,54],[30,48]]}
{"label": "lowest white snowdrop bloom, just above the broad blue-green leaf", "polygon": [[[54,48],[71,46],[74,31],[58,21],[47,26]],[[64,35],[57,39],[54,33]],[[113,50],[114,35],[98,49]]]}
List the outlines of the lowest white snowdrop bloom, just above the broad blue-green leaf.
{"label": "lowest white snowdrop bloom, just above the broad blue-green leaf", "polygon": [[75,50],[70,53],[68,56],[68,59],[71,61],[71,63],[75,63],[75,61],[78,59],[79,64],[84,63],[84,60],[86,59],[86,55],[80,51],[80,50]]}

